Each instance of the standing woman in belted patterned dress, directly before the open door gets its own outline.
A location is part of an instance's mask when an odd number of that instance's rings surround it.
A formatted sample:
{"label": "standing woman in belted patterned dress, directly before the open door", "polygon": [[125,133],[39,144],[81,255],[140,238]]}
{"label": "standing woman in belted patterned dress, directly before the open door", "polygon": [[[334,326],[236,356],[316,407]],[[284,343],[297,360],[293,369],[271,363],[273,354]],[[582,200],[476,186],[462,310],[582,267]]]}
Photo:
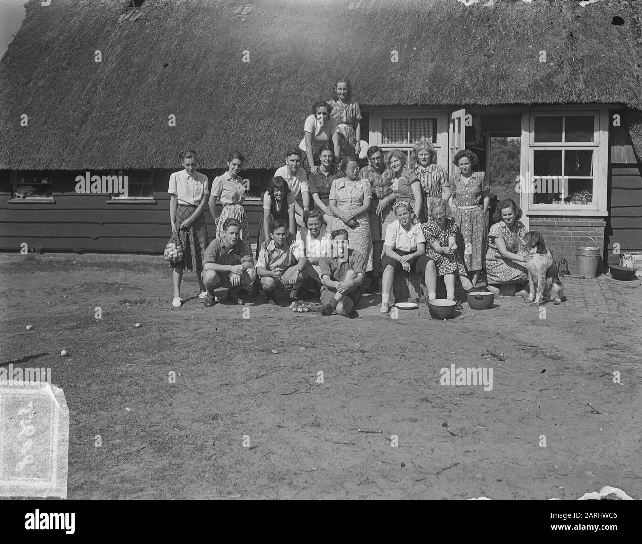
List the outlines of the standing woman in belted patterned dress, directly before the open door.
{"label": "standing woman in belted patterned dress, directly before the open door", "polygon": [[490,184],[485,181],[485,173],[473,172],[477,164],[473,151],[460,151],[453,162],[460,169],[460,173],[450,180],[456,208],[455,221],[464,242],[464,264],[472,275],[473,285],[476,285],[484,267],[488,243],[486,212],[490,205]]}

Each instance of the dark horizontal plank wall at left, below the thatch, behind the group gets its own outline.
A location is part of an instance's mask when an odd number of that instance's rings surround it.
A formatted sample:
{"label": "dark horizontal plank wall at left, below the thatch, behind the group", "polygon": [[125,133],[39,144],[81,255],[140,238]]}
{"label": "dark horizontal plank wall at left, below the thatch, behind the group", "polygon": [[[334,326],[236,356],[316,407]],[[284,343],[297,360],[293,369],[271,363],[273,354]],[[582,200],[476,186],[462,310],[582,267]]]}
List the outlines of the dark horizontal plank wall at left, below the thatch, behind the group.
{"label": "dark horizontal plank wall at left, below the thatch, behind the group", "polygon": [[[203,173],[211,189],[214,172]],[[105,194],[76,194],[76,173],[57,174],[54,202],[10,202],[10,171],[0,171],[1,251],[19,251],[21,243],[26,242],[29,248],[41,251],[162,253],[171,236],[167,192],[171,171],[154,171],[153,201],[135,204],[110,201]],[[263,204],[251,201],[245,210],[250,236],[256,243]],[[216,228],[209,207],[205,207],[205,217],[208,234],[213,237]]]}

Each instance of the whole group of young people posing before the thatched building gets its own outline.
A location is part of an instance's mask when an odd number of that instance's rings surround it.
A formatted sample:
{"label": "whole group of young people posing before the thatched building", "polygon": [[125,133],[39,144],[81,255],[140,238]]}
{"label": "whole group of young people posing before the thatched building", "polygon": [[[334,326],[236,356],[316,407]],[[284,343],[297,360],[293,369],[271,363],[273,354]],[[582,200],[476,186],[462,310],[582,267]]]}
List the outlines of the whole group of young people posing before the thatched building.
{"label": "whole group of young people posing before the thatched building", "polygon": [[[457,153],[459,172],[448,178],[422,138],[410,165],[403,151],[370,146],[361,168],[359,105],[348,80],[336,81],[334,90],[332,101],[313,105],[300,147],[286,151],[286,164],[268,183],[254,254],[239,176],[245,157],[230,153],[210,193],[207,176],[196,171],[195,151],[180,154],[183,169],[169,178],[171,226],[184,248],[182,262],[173,264],[173,306],[182,305],[184,269],[196,271],[206,307],[217,302],[217,287],[242,304],[239,296],[256,296],[260,285],[270,302],[291,288],[291,300],[316,297],[322,314],[351,318],[365,276],[367,293],[381,289],[382,313],[402,270],[421,275],[428,300],[436,297],[438,276],[451,300],[456,287],[473,290],[483,269],[496,292],[501,284],[526,284],[530,256],[520,242],[526,232],[521,210],[502,201],[489,232],[490,187],[485,174],[474,171],[476,155]],[[206,202],[216,223],[209,245]]]}

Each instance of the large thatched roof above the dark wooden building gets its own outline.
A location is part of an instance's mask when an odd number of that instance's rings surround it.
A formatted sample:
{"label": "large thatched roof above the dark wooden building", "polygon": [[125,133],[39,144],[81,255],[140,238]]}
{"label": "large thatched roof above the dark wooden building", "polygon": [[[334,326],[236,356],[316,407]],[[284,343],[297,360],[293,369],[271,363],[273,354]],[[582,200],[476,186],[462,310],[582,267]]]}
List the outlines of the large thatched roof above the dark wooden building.
{"label": "large thatched roof above the dark wooden building", "polygon": [[126,3],[27,4],[0,64],[0,169],[173,168],[184,146],[202,167],[223,166],[230,148],[248,168],[276,166],[338,75],[361,105],[642,110],[642,2],[256,0],[241,19],[234,0],[146,0],[119,24]]}

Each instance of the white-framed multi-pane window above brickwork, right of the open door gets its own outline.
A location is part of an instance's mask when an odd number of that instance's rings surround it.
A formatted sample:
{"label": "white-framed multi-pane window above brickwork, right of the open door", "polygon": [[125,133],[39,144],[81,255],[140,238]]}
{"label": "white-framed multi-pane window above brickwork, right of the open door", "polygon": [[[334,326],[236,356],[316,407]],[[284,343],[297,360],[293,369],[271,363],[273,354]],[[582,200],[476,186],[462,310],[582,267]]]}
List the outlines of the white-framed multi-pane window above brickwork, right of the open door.
{"label": "white-framed multi-pane window above brickwork, right of the open door", "polygon": [[532,112],[521,180],[529,210],[606,210],[608,133],[600,119],[596,110]]}

